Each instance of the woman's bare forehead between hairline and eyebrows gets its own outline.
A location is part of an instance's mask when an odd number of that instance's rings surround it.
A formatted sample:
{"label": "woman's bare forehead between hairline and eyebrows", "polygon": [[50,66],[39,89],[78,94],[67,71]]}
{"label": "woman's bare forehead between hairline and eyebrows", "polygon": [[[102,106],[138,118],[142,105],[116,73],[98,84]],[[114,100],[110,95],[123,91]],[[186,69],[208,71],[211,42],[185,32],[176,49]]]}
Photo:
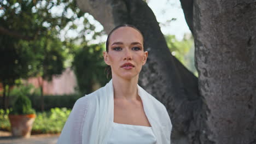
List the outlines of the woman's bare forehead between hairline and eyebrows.
{"label": "woman's bare forehead between hairline and eyebrows", "polygon": [[123,43],[143,43],[143,37],[141,33],[132,27],[120,27],[115,29],[115,31],[110,35],[109,44],[117,41]]}

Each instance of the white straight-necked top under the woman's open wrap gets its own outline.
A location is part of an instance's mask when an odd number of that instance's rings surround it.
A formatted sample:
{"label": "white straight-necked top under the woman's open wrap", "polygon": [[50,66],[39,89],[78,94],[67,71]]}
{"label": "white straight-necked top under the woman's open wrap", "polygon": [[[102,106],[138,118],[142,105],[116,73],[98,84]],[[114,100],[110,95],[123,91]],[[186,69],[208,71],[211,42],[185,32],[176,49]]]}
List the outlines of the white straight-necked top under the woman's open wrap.
{"label": "white straight-necked top under the woman's open wrap", "polygon": [[107,143],[155,144],[156,137],[152,131],[152,127],[113,123],[112,132]]}

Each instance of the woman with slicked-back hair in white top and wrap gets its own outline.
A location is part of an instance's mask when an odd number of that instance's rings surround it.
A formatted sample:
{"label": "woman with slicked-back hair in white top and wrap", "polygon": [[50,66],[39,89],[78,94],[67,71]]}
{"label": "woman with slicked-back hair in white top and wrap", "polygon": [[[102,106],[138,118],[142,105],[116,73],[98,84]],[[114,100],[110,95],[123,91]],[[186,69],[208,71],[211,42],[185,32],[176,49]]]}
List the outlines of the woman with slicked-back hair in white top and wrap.
{"label": "woman with slicked-back hair in white top and wrap", "polygon": [[57,143],[170,143],[165,106],[137,85],[148,57],[143,43],[130,25],[109,33],[103,55],[112,80],[77,100]]}

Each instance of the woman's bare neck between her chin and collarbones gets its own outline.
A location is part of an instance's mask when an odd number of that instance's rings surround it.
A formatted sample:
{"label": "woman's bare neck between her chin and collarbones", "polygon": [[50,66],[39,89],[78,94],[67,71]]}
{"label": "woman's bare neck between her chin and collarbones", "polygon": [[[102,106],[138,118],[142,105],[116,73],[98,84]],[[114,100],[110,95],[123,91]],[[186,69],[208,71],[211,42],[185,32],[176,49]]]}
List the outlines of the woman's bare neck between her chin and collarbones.
{"label": "woman's bare neck between her chin and collarbones", "polygon": [[138,99],[138,76],[132,79],[121,79],[113,76],[114,99],[136,100]]}

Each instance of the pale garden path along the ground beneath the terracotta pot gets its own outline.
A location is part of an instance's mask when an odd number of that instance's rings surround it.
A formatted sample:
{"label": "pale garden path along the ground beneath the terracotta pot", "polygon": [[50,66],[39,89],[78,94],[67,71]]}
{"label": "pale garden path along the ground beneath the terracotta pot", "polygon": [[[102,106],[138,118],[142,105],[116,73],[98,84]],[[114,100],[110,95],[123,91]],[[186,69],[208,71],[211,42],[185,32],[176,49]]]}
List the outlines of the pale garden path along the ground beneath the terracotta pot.
{"label": "pale garden path along the ground beneath the terracotta pot", "polygon": [[59,135],[40,134],[31,135],[29,139],[14,138],[11,134],[5,131],[0,131],[0,144],[56,144]]}

